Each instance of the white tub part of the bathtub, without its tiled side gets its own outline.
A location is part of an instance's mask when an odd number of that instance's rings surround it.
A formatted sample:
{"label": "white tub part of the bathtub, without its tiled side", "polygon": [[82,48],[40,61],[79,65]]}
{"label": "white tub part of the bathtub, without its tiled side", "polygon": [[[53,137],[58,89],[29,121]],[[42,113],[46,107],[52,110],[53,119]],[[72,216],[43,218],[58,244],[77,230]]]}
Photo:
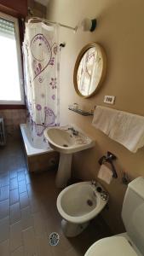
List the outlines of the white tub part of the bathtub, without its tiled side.
{"label": "white tub part of the bathtub, without its tiled side", "polygon": [[32,142],[32,137],[26,124],[20,124],[20,131],[23,137],[26,154],[28,157],[53,151],[53,149],[50,148],[49,144],[47,143],[37,143],[37,145],[34,144]]}

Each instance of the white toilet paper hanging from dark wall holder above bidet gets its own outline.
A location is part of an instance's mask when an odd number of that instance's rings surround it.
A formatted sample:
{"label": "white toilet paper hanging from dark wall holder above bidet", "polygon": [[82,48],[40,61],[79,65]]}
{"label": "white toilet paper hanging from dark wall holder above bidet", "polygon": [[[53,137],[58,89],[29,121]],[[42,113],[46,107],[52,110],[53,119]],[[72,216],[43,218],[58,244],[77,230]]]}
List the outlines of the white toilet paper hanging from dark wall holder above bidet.
{"label": "white toilet paper hanging from dark wall holder above bidet", "polygon": [[101,165],[97,177],[101,178],[105,183],[110,184],[112,181],[112,171],[106,165]]}

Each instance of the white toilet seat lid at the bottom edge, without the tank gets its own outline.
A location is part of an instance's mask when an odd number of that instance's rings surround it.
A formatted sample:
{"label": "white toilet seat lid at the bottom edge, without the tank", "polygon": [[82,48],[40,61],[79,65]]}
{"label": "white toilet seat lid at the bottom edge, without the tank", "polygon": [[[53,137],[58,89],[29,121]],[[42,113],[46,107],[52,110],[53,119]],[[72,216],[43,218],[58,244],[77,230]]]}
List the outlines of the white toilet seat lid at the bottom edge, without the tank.
{"label": "white toilet seat lid at the bottom edge, without the tank", "polygon": [[123,236],[112,236],[96,241],[84,256],[137,256],[129,241]]}

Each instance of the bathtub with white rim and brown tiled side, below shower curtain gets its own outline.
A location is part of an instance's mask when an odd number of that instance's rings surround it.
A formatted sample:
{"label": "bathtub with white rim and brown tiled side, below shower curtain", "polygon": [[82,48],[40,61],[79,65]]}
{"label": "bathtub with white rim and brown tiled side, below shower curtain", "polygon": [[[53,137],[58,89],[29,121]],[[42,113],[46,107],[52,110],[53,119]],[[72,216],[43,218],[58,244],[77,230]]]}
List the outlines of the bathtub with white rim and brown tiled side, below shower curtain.
{"label": "bathtub with white rim and brown tiled side, below shower curtain", "polygon": [[20,124],[20,131],[29,171],[42,172],[57,168],[59,164],[59,153],[50,148],[49,143],[38,142],[34,144],[26,124]]}

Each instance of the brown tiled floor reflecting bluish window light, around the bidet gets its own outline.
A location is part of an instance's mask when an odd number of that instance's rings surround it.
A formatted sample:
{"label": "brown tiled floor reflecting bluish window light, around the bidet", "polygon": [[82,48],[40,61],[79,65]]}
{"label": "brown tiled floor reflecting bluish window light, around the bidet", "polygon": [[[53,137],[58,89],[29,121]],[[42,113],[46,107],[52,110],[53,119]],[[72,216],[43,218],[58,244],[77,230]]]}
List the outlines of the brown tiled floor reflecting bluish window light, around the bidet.
{"label": "brown tiled floor reflecting bluish window light, around the bidet", "polygon": [[[29,174],[19,141],[0,148],[0,256],[78,256],[102,236],[107,227],[96,218],[84,232],[67,239],[60,228],[55,172]],[[49,245],[49,234],[60,242]]]}

